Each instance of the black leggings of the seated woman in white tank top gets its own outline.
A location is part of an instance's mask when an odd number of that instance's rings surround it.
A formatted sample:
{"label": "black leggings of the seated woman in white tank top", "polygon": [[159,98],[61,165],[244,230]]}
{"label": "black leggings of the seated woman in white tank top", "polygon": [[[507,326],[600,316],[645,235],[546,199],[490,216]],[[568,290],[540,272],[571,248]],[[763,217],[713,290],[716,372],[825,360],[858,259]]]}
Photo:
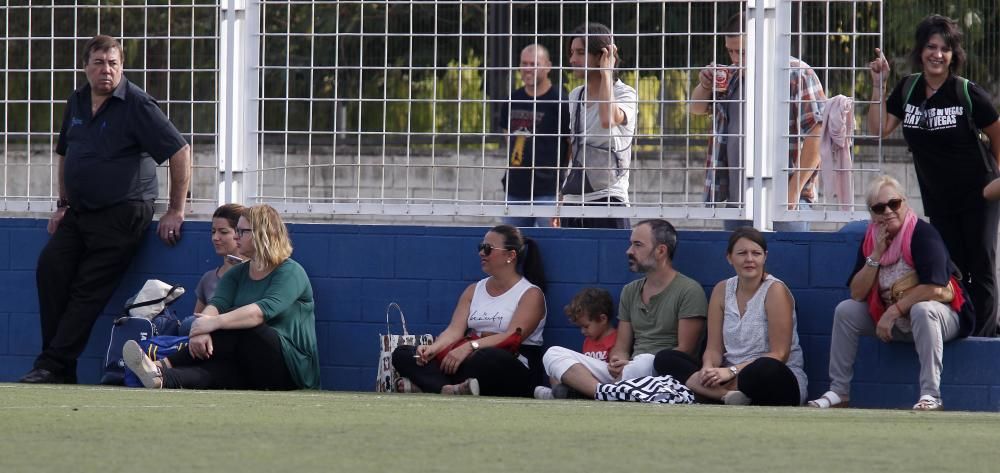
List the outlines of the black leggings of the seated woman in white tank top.
{"label": "black leggings of the seated woman in white tank top", "polygon": [[484,396],[532,397],[535,386],[543,376],[539,375],[542,366],[541,347],[521,345],[521,355],[528,359],[528,369],[509,351],[499,348],[483,348],[478,350],[461,365],[453,375],[441,371],[437,361],[420,366],[413,355],[416,348],[403,345],[392,352],[392,365],[400,376],[409,378],[423,392],[440,393],[447,384],[458,384],[469,378],[479,381],[480,394]]}

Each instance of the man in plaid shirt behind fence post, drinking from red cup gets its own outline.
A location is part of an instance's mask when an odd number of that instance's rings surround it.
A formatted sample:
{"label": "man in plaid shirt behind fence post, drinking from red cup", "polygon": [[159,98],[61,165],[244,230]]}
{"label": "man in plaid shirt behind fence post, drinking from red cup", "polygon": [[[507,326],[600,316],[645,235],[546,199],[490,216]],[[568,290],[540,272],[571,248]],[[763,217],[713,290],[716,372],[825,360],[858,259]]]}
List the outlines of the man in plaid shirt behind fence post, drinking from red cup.
{"label": "man in plaid shirt behind fence post, drinking from red cup", "polygon": [[[729,18],[725,28],[729,66],[709,64],[698,74],[698,84],[691,91],[691,113],[712,115],[714,137],[708,147],[705,176],[705,202],[709,205],[735,206],[744,201],[744,81],[745,71],[743,15]],[[808,210],[816,199],[815,177],[819,168],[819,135],[822,129],[826,93],[819,77],[805,62],[789,57],[788,135],[788,208]],[[713,100],[714,99],[714,100]],[[749,225],[741,220],[726,220],[727,230]],[[775,222],[778,231],[808,231],[807,222]]]}

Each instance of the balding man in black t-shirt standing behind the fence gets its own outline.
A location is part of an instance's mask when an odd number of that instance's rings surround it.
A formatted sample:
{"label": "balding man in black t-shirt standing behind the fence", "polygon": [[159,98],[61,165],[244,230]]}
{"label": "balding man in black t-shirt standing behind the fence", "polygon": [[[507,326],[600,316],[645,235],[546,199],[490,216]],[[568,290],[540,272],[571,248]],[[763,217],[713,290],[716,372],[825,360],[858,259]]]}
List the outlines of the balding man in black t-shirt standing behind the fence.
{"label": "balding man in black t-shirt standing behind the fence", "polygon": [[[510,133],[509,168],[504,176],[507,202],[555,205],[559,187],[558,167],[569,156],[569,104],[566,89],[549,79],[549,50],[529,44],[521,50],[519,72],[524,87],[510,95],[503,118]],[[550,227],[549,217],[504,217],[516,227]]]}

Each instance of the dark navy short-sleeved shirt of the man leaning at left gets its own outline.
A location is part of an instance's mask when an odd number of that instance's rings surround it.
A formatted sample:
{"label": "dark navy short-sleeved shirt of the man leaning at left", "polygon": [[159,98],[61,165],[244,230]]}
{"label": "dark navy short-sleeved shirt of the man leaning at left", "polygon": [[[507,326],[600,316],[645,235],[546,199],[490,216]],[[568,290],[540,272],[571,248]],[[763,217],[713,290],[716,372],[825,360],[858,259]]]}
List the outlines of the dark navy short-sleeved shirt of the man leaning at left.
{"label": "dark navy short-sleeved shirt of the man leaning at left", "polygon": [[124,76],[96,115],[91,115],[86,84],[67,100],[56,146],[56,153],[66,157],[66,198],[78,210],[153,201],[157,164],[185,144],[156,100]]}

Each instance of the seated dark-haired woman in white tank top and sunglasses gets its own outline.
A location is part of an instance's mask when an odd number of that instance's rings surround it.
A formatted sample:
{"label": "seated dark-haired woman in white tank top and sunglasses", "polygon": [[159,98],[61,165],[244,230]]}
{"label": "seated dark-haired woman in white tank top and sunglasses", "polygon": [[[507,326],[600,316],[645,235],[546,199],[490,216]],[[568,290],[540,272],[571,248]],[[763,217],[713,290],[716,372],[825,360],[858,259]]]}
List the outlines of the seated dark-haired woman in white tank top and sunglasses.
{"label": "seated dark-haired woman in white tank top and sunglasses", "polygon": [[545,376],[545,273],[538,245],[516,227],[498,225],[479,244],[479,265],[487,277],[462,292],[434,343],[393,352],[403,377],[399,391],[532,397]]}

